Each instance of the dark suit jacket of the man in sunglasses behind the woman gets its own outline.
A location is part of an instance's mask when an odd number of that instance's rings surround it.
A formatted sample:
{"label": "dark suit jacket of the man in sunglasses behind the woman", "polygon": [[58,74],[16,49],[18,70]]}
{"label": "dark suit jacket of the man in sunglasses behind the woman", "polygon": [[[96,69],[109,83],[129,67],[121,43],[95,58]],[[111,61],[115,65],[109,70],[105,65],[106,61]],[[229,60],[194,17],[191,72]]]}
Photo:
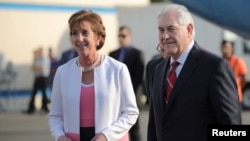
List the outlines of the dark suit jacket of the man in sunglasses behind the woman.
{"label": "dark suit jacket of the man in sunglasses behind the woman", "polygon": [[[110,52],[109,56],[118,60],[121,48]],[[144,58],[143,53],[135,47],[128,47],[123,59],[127,65],[135,93],[143,82]]]}

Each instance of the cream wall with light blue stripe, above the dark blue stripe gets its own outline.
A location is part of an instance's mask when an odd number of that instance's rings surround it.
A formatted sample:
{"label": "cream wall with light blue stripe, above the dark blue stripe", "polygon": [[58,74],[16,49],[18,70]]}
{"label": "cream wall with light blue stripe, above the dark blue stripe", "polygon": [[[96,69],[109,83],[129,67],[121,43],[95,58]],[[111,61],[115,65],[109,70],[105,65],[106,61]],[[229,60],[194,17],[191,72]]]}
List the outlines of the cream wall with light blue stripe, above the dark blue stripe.
{"label": "cream wall with light blue stripe, above the dark blue stripe", "polygon": [[102,16],[107,37],[100,52],[106,54],[117,46],[114,40],[118,29],[116,8],[0,2],[0,53],[4,59],[2,69],[9,61],[14,64],[18,71],[15,89],[32,87],[30,66],[36,48],[42,46],[47,53],[48,48],[52,47],[57,58],[64,50],[71,48],[68,18],[82,8]]}

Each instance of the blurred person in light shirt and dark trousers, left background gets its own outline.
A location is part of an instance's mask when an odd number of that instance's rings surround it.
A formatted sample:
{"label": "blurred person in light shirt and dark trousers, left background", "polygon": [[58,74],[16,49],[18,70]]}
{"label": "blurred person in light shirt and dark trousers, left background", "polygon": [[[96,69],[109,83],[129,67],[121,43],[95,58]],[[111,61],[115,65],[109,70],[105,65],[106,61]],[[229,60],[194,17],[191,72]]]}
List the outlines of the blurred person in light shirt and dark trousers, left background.
{"label": "blurred person in light shirt and dark trousers, left background", "polygon": [[35,80],[33,83],[30,102],[28,105],[28,110],[25,111],[27,114],[33,114],[36,111],[35,108],[35,97],[40,90],[42,92],[42,107],[41,110],[48,113],[48,103],[49,99],[47,97],[46,89],[47,89],[47,82],[48,76],[50,73],[50,60],[49,57],[43,54],[43,48],[39,47],[37,50],[34,51],[34,60],[33,65],[31,67],[32,71],[35,75]]}

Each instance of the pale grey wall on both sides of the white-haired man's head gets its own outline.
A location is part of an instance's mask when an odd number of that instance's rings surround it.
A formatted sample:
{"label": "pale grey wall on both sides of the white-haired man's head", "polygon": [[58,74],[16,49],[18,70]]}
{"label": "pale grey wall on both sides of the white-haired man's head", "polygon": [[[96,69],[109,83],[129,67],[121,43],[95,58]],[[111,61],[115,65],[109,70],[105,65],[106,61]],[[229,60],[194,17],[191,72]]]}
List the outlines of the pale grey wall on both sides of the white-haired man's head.
{"label": "pale grey wall on both sides of the white-haired man's head", "polygon": [[[128,25],[133,33],[132,44],[140,48],[145,54],[145,61],[149,61],[157,54],[158,17],[159,10],[167,3],[151,4],[146,7],[118,8],[119,25]],[[205,49],[220,54],[219,43],[222,39],[222,29],[193,14],[196,37],[195,40]]]}

